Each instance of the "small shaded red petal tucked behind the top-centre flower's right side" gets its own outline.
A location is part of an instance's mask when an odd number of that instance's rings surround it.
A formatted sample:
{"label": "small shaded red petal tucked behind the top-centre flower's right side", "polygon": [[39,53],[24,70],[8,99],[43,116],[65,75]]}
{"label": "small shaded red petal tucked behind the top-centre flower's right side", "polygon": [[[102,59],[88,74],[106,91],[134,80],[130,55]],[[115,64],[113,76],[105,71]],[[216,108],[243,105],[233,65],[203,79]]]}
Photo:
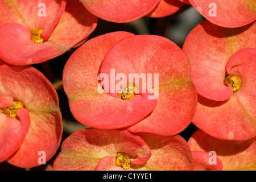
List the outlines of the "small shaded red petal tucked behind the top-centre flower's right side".
{"label": "small shaded red petal tucked behind the top-centre flower's right side", "polygon": [[178,0],[161,0],[158,6],[147,16],[151,18],[162,18],[174,14],[184,3]]}

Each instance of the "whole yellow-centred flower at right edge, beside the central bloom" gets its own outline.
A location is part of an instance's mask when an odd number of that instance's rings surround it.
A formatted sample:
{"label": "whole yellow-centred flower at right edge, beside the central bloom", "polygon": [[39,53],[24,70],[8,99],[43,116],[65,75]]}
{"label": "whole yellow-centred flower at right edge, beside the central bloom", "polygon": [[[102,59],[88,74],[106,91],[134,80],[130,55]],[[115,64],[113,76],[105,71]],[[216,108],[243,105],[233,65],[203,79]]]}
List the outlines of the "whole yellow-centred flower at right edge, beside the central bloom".
{"label": "whole yellow-centred flower at right edge, beside the central bloom", "polygon": [[183,51],[199,94],[193,123],[218,139],[256,136],[256,26],[223,28],[208,20],[195,27]]}

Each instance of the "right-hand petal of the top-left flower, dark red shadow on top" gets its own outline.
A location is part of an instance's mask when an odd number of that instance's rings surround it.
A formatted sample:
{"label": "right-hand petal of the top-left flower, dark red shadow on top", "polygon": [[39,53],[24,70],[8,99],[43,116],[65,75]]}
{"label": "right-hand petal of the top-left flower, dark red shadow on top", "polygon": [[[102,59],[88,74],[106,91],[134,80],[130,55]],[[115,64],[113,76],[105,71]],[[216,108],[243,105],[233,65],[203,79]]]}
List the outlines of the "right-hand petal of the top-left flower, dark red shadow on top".
{"label": "right-hand petal of the top-left flower, dark red shadow on top", "polygon": [[[64,14],[53,30],[49,42],[72,48],[85,41],[95,30],[98,18],[79,1],[67,1]],[[67,36],[69,35],[69,36]]]}

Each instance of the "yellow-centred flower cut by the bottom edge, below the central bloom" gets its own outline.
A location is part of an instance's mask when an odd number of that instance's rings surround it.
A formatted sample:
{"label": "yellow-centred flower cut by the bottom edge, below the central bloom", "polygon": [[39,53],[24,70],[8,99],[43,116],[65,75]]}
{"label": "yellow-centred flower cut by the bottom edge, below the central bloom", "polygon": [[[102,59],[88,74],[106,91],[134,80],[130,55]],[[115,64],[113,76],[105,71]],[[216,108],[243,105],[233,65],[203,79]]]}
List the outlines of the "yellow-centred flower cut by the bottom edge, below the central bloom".
{"label": "yellow-centred flower cut by the bottom edge, below the central bloom", "polygon": [[[151,155],[152,154],[152,155]],[[127,130],[82,129],[61,146],[53,170],[192,170],[187,142],[179,135],[134,135]]]}

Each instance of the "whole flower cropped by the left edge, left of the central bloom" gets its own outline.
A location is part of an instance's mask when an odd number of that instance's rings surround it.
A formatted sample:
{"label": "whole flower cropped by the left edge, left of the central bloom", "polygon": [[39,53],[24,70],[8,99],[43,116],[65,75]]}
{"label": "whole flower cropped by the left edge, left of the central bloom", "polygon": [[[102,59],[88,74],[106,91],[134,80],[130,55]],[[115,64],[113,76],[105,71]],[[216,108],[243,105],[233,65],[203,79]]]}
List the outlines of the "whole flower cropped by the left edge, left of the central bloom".
{"label": "whole flower cropped by the left edge, left of the central bloom", "polygon": [[47,161],[59,148],[62,130],[59,99],[47,78],[0,60],[0,162],[39,166],[44,152]]}

